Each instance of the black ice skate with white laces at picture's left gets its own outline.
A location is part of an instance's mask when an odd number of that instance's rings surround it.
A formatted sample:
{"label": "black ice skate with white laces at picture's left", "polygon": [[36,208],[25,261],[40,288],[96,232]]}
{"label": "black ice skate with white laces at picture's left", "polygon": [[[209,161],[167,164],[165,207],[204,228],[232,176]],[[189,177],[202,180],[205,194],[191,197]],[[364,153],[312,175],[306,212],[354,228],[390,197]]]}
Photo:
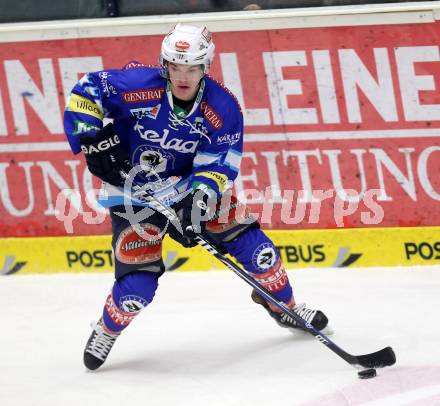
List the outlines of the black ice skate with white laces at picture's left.
{"label": "black ice skate with white laces at picture's left", "polygon": [[84,365],[90,369],[98,369],[107,359],[120,333],[110,334],[104,327],[102,318],[93,326],[92,334],[84,350]]}

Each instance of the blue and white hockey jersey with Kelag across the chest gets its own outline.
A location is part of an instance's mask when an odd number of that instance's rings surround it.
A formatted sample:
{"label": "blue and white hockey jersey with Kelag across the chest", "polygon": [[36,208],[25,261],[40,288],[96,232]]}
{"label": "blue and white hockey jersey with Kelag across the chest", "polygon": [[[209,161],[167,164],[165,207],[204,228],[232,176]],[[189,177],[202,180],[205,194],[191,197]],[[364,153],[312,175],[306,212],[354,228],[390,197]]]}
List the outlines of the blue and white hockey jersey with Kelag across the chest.
{"label": "blue and white hockey jersey with Kelag across the chest", "polygon": [[[180,192],[202,184],[221,195],[237,177],[242,156],[243,116],[235,97],[205,76],[191,111],[176,114],[160,68],[139,65],[88,73],[75,85],[64,112],[72,151],[81,151],[80,135],[93,135],[104,118],[113,119],[132,165],[144,169],[141,182],[165,181]],[[104,189],[101,204],[123,204],[121,189]]]}

